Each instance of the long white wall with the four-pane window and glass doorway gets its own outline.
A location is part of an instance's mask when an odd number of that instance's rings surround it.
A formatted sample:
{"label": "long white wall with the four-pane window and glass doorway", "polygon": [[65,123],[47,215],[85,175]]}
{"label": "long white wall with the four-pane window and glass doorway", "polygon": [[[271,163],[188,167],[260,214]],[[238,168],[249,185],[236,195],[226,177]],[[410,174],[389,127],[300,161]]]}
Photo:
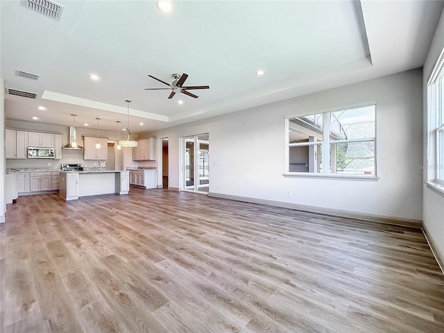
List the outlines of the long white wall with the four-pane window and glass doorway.
{"label": "long white wall with the four-pane window and glass doorway", "polygon": [[[285,115],[373,100],[378,182],[282,176]],[[212,194],[420,221],[421,123],[422,71],[416,69],[152,134],[169,137],[171,187],[179,187],[179,137],[210,133]]]}

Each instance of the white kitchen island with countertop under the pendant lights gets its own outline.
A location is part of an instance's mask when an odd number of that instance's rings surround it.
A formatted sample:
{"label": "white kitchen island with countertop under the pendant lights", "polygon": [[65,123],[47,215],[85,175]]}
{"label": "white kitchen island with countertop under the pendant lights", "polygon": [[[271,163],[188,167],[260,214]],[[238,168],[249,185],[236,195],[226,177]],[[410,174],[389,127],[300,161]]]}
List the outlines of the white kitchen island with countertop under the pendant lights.
{"label": "white kitchen island with countertop under the pendant lights", "polygon": [[128,194],[129,171],[60,171],[60,197],[76,200],[83,196]]}

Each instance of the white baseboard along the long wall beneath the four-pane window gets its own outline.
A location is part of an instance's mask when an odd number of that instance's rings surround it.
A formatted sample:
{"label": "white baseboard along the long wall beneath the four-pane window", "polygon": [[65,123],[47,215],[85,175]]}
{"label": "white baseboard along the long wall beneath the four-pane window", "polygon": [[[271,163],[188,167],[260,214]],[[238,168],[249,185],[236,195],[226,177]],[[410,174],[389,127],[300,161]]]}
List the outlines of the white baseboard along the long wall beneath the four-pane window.
{"label": "white baseboard along the long wall beneath the four-pane window", "polygon": [[379,223],[389,223],[389,224],[403,225],[403,226],[412,227],[412,228],[419,228],[419,229],[422,228],[422,221],[416,220],[416,219],[402,219],[402,218],[392,217],[392,216],[379,216],[379,215],[366,214],[366,213],[361,213],[361,212],[351,212],[351,211],[347,211],[347,210],[334,210],[332,208],[316,207],[316,206],[309,206],[309,205],[298,205],[296,203],[284,203],[282,201],[249,198],[246,196],[232,196],[232,195],[228,195],[228,194],[219,194],[219,193],[210,193],[208,195],[214,196],[216,198],[225,198],[225,199],[230,199],[230,200],[245,201],[247,203],[259,203],[262,205],[271,205],[271,206],[275,206],[275,207],[290,208],[291,210],[302,210],[304,212],[311,212],[311,213],[318,213],[318,214],[325,214],[325,215],[332,215],[332,216],[340,216],[340,217],[346,217],[349,219],[358,219],[358,220],[372,221],[372,222],[379,222]]}

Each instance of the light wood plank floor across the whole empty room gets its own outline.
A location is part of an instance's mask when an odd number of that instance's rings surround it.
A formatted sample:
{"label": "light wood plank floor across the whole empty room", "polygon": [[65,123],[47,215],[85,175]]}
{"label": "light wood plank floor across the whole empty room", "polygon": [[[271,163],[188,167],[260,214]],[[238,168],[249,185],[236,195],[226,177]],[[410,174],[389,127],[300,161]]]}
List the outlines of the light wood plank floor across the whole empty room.
{"label": "light wood plank floor across the whole empty room", "polygon": [[0,228],[1,332],[444,332],[420,230],[136,188]]}

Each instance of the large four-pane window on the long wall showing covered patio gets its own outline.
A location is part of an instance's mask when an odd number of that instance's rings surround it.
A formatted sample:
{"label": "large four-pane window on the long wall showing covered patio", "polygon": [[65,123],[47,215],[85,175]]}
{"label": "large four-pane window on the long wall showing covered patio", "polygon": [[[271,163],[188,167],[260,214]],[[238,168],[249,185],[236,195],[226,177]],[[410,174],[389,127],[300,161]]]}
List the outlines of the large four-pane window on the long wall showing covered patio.
{"label": "large four-pane window on the long wall showing covered patio", "polygon": [[287,173],[376,177],[376,105],[287,118]]}

